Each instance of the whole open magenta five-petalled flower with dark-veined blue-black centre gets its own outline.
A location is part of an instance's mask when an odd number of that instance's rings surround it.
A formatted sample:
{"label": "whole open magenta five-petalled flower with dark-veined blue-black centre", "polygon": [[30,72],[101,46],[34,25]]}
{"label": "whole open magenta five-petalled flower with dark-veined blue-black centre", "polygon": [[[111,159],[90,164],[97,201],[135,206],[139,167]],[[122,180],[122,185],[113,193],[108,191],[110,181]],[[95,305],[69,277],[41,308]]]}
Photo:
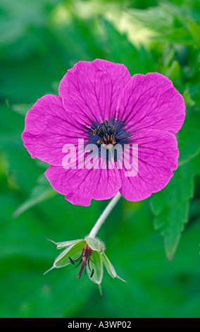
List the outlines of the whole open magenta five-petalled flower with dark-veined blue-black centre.
{"label": "whole open magenta five-petalled flower with dark-veined blue-black centre", "polygon": [[[175,134],[185,119],[185,102],[168,78],[131,77],[122,64],[80,61],[62,78],[59,95],[37,100],[25,117],[22,138],[32,158],[50,164],[46,178],[68,201],[89,206],[92,198],[112,198],[118,191],[128,201],[140,201],[168,184],[179,155]],[[80,139],[84,152],[78,165]],[[71,167],[63,167],[66,144],[76,148]],[[85,167],[88,144],[99,151],[98,166],[102,147],[122,146],[120,167],[115,155],[113,167],[111,160],[104,160],[104,167]],[[133,145],[137,154],[130,158],[137,160],[137,172],[127,176],[125,148]]]}

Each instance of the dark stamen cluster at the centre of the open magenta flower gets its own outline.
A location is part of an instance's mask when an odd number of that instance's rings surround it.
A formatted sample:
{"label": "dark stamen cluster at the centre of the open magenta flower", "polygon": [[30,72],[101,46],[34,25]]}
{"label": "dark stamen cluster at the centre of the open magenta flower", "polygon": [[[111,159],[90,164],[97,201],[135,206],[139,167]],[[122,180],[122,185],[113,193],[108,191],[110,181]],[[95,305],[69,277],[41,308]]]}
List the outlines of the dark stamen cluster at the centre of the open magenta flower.
{"label": "dark stamen cluster at the centre of the open magenta flower", "polygon": [[97,144],[105,144],[108,146],[108,144],[115,144],[115,126],[109,126],[108,121],[104,120],[102,124],[99,124],[99,126],[94,129],[93,136],[99,135],[100,139],[96,142]]}

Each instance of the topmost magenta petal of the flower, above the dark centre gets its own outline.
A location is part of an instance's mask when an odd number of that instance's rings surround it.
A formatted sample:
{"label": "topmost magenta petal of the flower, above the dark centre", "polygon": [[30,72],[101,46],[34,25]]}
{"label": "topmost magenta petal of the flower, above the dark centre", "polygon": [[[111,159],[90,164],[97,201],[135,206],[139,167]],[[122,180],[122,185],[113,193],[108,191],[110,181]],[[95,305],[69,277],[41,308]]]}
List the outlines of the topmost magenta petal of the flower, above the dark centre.
{"label": "topmost magenta petal of the flower, above the dark centre", "polygon": [[80,61],[61,80],[59,95],[68,112],[85,126],[92,126],[92,122],[113,118],[118,95],[129,80],[123,64]]}

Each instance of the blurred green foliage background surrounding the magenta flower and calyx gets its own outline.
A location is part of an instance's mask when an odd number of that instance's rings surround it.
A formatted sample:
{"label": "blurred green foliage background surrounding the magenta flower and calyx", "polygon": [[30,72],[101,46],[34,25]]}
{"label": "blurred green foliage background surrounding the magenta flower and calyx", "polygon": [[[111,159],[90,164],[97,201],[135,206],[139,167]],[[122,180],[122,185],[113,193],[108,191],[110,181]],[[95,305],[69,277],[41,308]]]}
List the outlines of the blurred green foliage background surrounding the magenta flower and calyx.
{"label": "blurred green foliage background surrounding the magenta flower and calyx", "polygon": [[[1,0],[1,317],[200,317],[199,50],[199,0]],[[173,179],[145,201],[122,198],[99,231],[127,280],[105,272],[102,297],[70,266],[43,273],[58,254],[46,237],[84,237],[108,201],[65,201],[20,138],[35,101],[96,58],[168,76],[187,106]]]}

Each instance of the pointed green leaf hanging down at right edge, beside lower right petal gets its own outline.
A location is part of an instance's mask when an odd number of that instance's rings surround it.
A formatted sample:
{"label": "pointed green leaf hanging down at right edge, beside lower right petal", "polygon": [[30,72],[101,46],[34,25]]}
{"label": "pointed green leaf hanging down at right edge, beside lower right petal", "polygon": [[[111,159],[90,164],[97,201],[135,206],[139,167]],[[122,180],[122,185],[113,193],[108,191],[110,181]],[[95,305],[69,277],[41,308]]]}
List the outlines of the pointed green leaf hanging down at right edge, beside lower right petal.
{"label": "pointed green leaf hanging down at right edge, beside lower right petal", "polygon": [[168,186],[151,197],[154,228],[164,237],[165,254],[173,259],[181,232],[188,222],[189,201],[194,196],[194,177],[200,174],[200,156],[180,166]]}

